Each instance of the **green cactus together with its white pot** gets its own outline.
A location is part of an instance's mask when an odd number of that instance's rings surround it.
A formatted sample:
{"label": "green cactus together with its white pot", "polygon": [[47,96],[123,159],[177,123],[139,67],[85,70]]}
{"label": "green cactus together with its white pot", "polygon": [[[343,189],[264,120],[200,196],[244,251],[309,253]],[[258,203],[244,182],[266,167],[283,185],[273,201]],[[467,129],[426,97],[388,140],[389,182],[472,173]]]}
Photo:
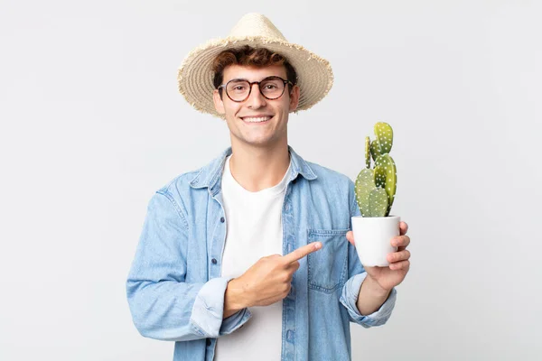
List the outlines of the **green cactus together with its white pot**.
{"label": "green cactus together with its white pot", "polygon": [[[376,139],[365,138],[365,168],[355,182],[361,216],[352,217],[352,232],[360,262],[364,266],[388,266],[387,255],[397,251],[390,244],[399,236],[400,217],[389,215],[397,189],[397,169],[389,155],[393,144],[390,125],[374,126]],[[374,168],[371,169],[371,158]]]}

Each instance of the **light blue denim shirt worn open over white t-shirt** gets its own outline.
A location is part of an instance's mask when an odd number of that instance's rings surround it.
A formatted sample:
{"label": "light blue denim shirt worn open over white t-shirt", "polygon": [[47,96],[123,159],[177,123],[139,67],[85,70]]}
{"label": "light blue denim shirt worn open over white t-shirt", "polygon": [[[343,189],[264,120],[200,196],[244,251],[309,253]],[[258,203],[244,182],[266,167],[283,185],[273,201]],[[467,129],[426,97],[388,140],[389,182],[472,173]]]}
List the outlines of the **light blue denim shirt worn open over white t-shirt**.
{"label": "light blue denim shirt worn open over white t-shirt", "polygon": [[[354,183],[304,161],[288,146],[291,175],[282,208],[283,254],[310,242],[283,302],[282,360],[350,360],[350,321],[387,322],[397,290],[374,313],[356,306],[367,273],[346,239],[359,216]],[[248,308],[223,318],[229,279],[220,276],[228,219],[220,183],[231,148],[197,171],[183,173],[150,199],[126,280],[135,328],[146,338],[175,341],[174,361],[212,360],[216,339],[251,317]]]}

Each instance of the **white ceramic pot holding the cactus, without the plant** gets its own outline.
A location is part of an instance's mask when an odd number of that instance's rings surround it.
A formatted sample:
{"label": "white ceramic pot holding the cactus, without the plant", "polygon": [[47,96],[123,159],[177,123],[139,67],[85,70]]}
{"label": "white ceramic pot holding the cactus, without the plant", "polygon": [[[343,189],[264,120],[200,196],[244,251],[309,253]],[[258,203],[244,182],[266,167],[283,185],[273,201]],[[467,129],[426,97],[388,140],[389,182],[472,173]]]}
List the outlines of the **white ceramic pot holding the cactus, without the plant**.
{"label": "white ceramic pot holding the cactus, without the plant", "polygon": [[391,239],[401,234],[399,216],[352,217],[352,232],[356,251],[364,266],[386,267],[387,255],[397,252]]}

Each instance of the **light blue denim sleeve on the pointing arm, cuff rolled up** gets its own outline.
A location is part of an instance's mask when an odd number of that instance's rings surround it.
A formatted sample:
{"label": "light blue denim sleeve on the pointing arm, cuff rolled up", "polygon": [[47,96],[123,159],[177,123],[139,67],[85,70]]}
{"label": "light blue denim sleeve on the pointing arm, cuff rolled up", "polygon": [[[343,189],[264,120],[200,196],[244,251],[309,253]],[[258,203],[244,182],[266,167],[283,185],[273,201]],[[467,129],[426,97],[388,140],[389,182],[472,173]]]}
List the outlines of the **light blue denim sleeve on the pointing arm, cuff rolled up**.
{"label": "light blue denim sleeve on the pointing arm, cuff rolled up", "polygon": [[171,194],[150,200],[126,280],[126,296],[141,335],[168,341],[218,338],[250,318],[247,309],[223,318],[229,279],[185,282],[188,227]]}

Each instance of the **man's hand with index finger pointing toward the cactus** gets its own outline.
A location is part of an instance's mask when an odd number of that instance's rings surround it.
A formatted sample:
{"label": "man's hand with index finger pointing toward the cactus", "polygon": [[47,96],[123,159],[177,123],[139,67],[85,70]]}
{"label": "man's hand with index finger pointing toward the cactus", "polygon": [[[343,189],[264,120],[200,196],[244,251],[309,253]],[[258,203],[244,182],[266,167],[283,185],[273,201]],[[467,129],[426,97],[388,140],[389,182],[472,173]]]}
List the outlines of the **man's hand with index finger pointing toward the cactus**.
{"label": "man's hand with index finger pointing toward the cactus", "polygon": [[320,248],[322,242],[313,242],[288,255],[260,258],[247,272],[229,281],[224,296],[224,318],[246,307],[268,306],[284,299],[292,288],[299,260]]}

